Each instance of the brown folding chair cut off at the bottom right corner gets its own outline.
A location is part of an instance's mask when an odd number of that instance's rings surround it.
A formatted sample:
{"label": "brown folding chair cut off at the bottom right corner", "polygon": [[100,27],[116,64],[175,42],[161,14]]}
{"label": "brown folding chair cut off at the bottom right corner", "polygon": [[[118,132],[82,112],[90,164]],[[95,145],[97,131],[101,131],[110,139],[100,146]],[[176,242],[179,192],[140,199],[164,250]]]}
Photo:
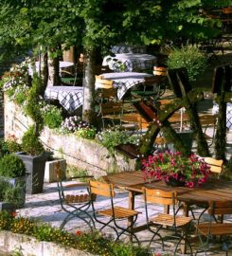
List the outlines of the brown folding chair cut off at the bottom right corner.
{"label": "brown folding chair cut off at the bottom right corner", "polygon": [[202,217],[204,216],[205,211],[200,215],[197,224],[195,225],[198,237],[201,242],[201,246],[197,248],[195,255],[200,251],[210,250],[210,244],[215,244],[214,242],[217,239],[217,236],[220,236],[221,242],[223,240],[223,250],[225,250],[226,255],[228,254],[228,249],[231,247],[230,240],[226,240],[226,237],[231,237],[232,235],[232,223],[221,223],[217,220],[217,215],[222,214],[232,214],[232,202],[220,202],[212,201],[208,203],[209,207],[207,212],[209,214],[209,221],[202,222]]}

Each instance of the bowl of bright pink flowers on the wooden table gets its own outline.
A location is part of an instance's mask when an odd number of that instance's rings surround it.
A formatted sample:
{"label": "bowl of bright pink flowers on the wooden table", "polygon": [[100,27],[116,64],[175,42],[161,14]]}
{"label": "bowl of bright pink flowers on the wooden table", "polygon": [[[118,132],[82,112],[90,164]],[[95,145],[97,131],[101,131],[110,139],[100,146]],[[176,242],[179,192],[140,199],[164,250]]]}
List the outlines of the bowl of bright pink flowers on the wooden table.
{"label": "bowl of bright pink flowers on the wooden table", "polygon": [[164,180],[170,186],[193,188],[205,183],[210,167],[197,155],[184,156],[179,152],[158,153],[142,160],[146,180]]}

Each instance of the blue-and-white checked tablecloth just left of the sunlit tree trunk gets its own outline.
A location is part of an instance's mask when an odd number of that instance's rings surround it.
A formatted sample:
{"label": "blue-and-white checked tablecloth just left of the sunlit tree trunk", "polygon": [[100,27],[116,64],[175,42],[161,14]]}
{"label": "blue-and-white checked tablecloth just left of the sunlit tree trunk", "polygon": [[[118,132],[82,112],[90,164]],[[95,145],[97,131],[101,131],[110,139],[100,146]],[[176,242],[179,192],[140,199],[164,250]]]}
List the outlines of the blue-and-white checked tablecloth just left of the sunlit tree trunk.
{"label": "blue-and-white checked tablecloth just left of the sunlit tree trunk", "polygon": [[50,86],[45,89],[46,100],[58,100],[69,112],[77,110],[83,103],[83,87]]}

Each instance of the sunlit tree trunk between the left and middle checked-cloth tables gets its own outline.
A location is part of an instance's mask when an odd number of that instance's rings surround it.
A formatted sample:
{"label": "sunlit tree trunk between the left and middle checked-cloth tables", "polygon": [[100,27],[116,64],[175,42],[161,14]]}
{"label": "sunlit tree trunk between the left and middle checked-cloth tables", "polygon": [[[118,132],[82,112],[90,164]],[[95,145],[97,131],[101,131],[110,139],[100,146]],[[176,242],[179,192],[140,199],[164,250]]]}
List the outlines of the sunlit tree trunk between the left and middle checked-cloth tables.
{"label": "sunlit tree trunk between the left and middle checked-cloth tables", "polygon": [[86,50],[86,66],[83,81],[82,119],[93,124],[95,122],[95,50]]}

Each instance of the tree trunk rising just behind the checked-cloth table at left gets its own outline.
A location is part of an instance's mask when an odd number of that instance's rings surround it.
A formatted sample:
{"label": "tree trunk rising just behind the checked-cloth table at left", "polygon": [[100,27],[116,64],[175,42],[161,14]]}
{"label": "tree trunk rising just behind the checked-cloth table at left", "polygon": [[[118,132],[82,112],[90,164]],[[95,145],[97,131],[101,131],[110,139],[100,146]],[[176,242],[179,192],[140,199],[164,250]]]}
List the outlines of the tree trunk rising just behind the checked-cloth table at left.
{"label": "tree trunk rising just behind the checked-cloth table at left", "polygon": [[48,52],[48,81],[47,86],[61,85],[59,74],[59,58],[52,57],[52,52]]}

